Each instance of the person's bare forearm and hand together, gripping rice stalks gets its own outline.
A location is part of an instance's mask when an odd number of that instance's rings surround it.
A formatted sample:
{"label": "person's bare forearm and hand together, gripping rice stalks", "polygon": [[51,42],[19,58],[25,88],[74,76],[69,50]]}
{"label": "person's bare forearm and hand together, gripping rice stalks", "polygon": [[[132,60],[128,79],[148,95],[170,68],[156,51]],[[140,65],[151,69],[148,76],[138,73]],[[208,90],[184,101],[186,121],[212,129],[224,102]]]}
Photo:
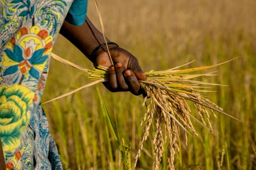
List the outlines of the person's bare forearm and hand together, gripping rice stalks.
{"label": "person's bare forearm and hand together, gripping rice stalks", "polygon": [[109,80],[103,83],[107,89],[112,92],[131,91],[135,95],[143,93],[139,80],[146,80],[146,75],[141,70],[137,58],[131,53],[115,45],[109,45],[114,66],[111,66],[108,53],[105,51],[106,47],[99,49],[95,56],[91,55],[95,48],[104,43],[104,38],[88,17],[81,26],[64,21],[60,33],[84,53],[95,67],[102,65],[110,68]]}

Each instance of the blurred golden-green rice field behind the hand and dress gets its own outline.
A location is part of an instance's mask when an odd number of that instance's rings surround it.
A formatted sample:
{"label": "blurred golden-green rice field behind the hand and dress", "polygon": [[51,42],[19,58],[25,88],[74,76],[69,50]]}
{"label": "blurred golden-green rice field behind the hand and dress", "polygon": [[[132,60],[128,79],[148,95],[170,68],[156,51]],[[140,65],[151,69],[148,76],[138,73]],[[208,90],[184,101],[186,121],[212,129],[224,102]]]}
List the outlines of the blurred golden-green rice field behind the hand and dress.
{"label": "blurred golden-green rice field behind the hand and dress", "polygon": [[[201,80],[218,86],[210,97],[225,112],[250,124],[228,117],[211,117],[214,132],[195,126],[199,137],[180,130],[176,169],[256,169],[256,1],[255,0],[98,0],[107,37],[136,56],[144,71],[185,66],[205,66],[239,57],[210,71],[218,76]],[[94,2],[88,16],[100,28]],[[91,69],[93,65],[71,43],[58,36],[53,50],[59,56]],[[52,59],[43,101],[91,82],[84,73]],[[120,138],[131,142],[131,160],[138,149],[145,108],[142,96],[111,93],[97,85]],[[120,152],[102,116],[96,86],[44,104],[50,131],[57,142],[65,169],[124,169]],[[194,112],[193,115],[197,116]],[[193,122],[196,124],[196,122]],[[144,145],[138,170],[154,169],[153,136]],[[223,153],[225,152],[225,155]],[[162,169],[166,169],[166,153]],[[223,160],[223,161],[222,161]]]}

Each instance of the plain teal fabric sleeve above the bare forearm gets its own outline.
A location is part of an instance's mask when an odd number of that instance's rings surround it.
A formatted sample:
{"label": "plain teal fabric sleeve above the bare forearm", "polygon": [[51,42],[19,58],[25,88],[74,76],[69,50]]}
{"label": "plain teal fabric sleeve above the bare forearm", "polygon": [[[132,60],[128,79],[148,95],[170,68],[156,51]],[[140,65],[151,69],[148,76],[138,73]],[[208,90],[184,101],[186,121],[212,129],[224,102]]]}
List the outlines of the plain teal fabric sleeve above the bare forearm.
{"label": "plain teal fabric sleeve above the bare forearm", "polygon": [[87,12],[87,0],[74,0],[65,18],[72,25],[83,25]]}

